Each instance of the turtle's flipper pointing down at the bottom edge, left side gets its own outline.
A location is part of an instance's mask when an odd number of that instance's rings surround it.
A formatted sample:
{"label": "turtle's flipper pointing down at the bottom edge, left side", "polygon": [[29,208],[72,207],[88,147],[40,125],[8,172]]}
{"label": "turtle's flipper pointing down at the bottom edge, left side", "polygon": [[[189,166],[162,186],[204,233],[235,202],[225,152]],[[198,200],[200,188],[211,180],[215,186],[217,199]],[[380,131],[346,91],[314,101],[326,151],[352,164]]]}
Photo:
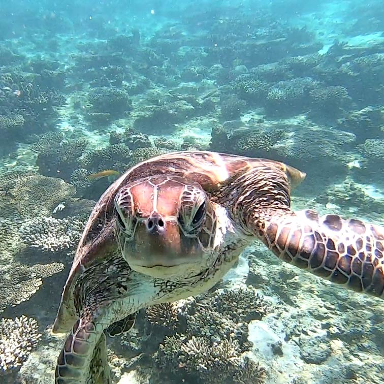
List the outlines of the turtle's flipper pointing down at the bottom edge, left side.
{"label": "turtle's flipper pointing down at the bottom edge, left side", "polygon": [[111,383],[103,327],[86,317],[73,326],[57,359],[55,384]]}

